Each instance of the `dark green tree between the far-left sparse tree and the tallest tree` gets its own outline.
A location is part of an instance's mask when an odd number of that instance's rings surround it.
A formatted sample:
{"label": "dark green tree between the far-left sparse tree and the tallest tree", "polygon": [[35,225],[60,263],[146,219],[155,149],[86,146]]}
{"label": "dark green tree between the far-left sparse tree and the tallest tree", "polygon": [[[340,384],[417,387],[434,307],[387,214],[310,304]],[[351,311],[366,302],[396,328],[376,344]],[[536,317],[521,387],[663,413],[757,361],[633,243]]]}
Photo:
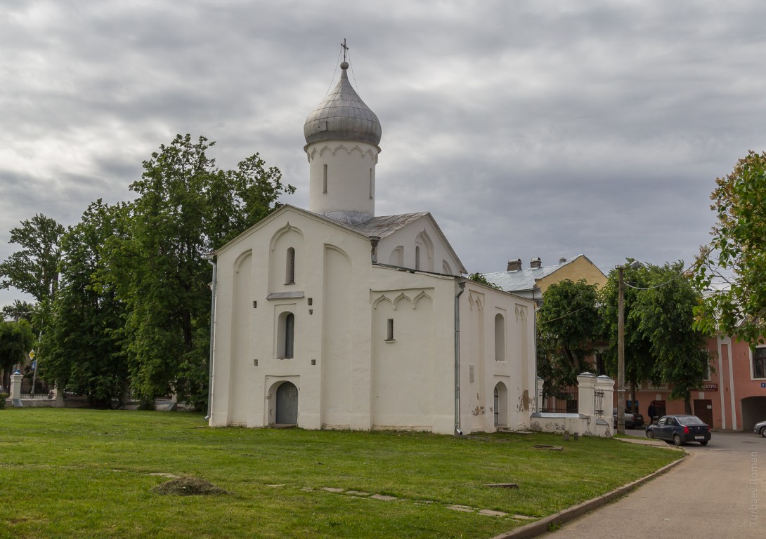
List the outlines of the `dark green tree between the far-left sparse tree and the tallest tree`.
{"label": "dark green tree between the far-left sparse tree and the tallest tree", "polygon": [[41,377],[86,395],[93,407],[119,403],[129,385],[126,304],[116,296],[104,257],[110,239],[125,237],[128,209],[97,200],[62,236],[61,282],[38,351]]}

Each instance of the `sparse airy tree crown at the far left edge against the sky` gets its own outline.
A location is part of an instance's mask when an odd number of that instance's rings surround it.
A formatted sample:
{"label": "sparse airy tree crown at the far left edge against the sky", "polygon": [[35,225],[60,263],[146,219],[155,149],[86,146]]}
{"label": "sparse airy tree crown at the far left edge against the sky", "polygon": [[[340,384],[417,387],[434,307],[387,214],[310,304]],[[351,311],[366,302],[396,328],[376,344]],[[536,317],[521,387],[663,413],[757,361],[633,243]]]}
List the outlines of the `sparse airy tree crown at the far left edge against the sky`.
{"label": "sparse airy tree crown at the far left edge against the sky", "polygon": [[17,288],[31,294],[38,302],[50,302],[56,294],[58,246],[64,227],[55,219],[37,214],[11,229],[11,243],[21,245],[0,264],[0,288]]}

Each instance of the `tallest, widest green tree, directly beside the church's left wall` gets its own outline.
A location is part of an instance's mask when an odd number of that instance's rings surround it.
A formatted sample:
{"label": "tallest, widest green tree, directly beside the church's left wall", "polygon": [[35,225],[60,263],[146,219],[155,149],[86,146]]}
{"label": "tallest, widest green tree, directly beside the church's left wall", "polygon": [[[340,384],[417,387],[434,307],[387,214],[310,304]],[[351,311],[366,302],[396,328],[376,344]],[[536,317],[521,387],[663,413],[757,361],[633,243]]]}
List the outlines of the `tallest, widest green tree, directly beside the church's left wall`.
{"label": "tallest, widest green tree, directly beside the church's left wall", "polygon": [[258,154],[234,170],[207,155],[213,145],[178,135],[144,161],[128,235],[110,242],[117,297],[127,307],[126,352],[134,395],[174,391],[207,399],[211,267],[206,254],[280,206],[294,188]]}

